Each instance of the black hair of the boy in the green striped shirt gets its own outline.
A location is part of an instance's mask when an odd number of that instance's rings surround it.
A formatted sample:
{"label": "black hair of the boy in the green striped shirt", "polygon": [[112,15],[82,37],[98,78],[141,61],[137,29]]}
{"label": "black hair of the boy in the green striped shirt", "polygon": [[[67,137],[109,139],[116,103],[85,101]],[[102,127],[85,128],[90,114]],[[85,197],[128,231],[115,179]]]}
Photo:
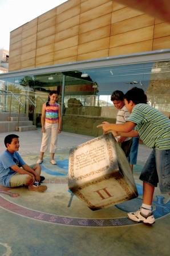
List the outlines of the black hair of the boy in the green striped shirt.
{"label": "black hair of the boy in the green striped shirt", "polygon": [[128,102],[132,101],[135,105],[139,103],[147,104],[147,95],[141,88],[133,87],[131,90],[127,91],[124,98],[127,99]]}

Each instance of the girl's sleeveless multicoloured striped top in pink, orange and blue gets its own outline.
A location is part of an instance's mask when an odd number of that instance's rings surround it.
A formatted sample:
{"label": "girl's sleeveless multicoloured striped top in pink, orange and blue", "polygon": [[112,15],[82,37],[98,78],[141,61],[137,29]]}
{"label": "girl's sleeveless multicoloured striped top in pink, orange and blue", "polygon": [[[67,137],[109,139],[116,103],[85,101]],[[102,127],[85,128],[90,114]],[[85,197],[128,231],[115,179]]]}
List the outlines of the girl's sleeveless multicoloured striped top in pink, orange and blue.
{"label": "girl's sleeveless multicoloured striped top in pink, orange and blue", "polygon": [[58,111],[59,104],[55,103],[52,105],[46,106],[46,122],[47,123],[58,123]]}

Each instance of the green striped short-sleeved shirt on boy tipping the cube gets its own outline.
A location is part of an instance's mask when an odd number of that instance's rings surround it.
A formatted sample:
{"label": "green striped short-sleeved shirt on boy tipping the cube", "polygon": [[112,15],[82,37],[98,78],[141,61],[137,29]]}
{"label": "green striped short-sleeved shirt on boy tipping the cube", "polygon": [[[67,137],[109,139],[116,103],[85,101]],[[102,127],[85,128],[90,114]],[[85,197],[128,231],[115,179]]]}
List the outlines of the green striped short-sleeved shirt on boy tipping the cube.
{"label": "green striped short-sleeved shirt on boy tipping the cube", "polygon": [[136,123],[135,130],[148,147],[170,149],[170,120],[160,111],[140,103],[133,107],[127,121]]}

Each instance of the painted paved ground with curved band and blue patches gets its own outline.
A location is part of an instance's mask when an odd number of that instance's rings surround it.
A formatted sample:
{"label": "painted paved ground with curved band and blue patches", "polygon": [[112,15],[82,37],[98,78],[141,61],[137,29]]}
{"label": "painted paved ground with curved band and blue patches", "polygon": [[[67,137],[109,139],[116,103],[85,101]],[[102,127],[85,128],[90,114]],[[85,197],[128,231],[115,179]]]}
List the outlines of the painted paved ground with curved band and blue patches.
{"label": "painted paved ground with curved band and blue patches", "polygon": [[[7,134],[0,134],[0,153],[5,150],[3,139]],[[15,134],[19,135],[19,153],[23,159],[28,164],[36,162],[41,130]],[[143,145],[139,147],[134,171],[138,198],[91,211],[74,196],[68,207],[69,150],[91,138],[71,133],[59,135],[55,158],[58,165],[50,165],[48,154],[42,165],[48,187],[45,193],[28,191],[26,188],[10,190],[19,193],[20,196],[16,198],[0,193],[0,256],[169,255],[170,203],[164,203],[159,188],[155,191],[153,202],[155,225],[145,226],[127,219],[127,211],[137,210],[141,204],[139,174],[151,151]]]}

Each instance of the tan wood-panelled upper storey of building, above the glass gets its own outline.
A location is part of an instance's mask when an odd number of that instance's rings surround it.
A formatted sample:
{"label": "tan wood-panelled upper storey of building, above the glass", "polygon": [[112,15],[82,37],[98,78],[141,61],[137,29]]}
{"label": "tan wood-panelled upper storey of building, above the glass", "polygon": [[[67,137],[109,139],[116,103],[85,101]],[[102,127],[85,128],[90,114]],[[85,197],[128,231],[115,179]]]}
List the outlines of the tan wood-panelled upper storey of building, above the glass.
{"label": "tan wood-panelled upper storey of building, above the glass", "polygon": [[170,26],[111,0],[69,0],[10,33],[9,71],[169,49]]}

